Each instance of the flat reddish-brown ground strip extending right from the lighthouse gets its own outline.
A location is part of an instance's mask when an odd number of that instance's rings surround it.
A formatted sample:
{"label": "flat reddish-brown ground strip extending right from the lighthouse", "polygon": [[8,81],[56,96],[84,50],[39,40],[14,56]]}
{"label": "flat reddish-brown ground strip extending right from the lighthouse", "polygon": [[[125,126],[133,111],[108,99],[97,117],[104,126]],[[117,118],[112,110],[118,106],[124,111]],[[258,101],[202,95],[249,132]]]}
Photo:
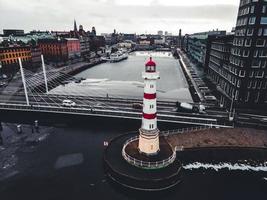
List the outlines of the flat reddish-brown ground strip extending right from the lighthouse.
{"label": "flat reddish-brown ground strip extending right from the lighthouse", "polygon": [[244,147],[266,148],[267,131],[248,128],[207,129],[200,131],[172,134],[167,137],[172,147]]}

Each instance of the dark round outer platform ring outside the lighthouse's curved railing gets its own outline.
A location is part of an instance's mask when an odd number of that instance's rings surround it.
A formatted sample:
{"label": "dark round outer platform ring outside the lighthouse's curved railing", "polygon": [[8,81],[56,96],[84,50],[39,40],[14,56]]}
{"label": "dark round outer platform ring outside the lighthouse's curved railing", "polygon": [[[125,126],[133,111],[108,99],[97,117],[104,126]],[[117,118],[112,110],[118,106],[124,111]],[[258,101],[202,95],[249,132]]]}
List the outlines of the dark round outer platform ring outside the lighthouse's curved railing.
{"label": "dark round outer platform ring outside the lighthouse's curved railing", "polygon": [[124,159],[122,156],[124,144],[135,135],[122,135],[109,143],[104,152],[107,175],[119,185],[135,190],[160,191],[177,185],[181,181],[181,163],[177,159],[166,167],[149,169],[136,167]]}

